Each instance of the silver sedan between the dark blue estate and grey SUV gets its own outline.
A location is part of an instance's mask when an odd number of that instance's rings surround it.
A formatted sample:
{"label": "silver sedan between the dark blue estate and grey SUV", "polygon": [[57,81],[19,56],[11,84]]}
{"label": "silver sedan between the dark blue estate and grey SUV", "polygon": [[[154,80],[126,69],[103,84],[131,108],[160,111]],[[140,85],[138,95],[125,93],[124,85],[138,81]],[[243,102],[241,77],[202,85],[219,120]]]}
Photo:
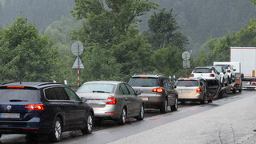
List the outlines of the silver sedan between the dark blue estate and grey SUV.
{"label": "silver sedan between the dark blue estate and grey SUV", "polygon": [[140,92],[135,92],[126,82],[85,82],[76,93],[85,97],[93,107],[96,120],[113,119],[123,125],[126,118],[144,118],[144,104],[138,96]]}

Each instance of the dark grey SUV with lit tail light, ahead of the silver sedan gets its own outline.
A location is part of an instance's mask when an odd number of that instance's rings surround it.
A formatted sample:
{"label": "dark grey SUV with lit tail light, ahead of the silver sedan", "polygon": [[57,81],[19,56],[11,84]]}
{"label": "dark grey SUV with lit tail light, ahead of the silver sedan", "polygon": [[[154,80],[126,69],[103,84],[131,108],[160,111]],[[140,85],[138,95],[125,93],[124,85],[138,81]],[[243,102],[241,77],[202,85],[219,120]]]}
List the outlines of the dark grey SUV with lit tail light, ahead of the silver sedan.
{"label": "dark grey SUV with lit tail light, ahead of the silver sedan", "polygon": [[128,83],[135,91],[141,91],[145,108],[160,109],[161,113],[166,113],[168,106],[178,109],[178,93],[164,75],[135,74]]}

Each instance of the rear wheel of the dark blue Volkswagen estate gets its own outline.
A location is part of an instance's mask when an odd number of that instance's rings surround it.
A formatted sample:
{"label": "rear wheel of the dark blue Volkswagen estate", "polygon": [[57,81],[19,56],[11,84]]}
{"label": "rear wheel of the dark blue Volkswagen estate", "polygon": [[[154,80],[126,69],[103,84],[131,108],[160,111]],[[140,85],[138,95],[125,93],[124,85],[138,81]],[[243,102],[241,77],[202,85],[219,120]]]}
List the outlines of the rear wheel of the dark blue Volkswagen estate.
{"label": "rear wheel of the dark blue Volkswagen estate", "polygon": [[50,134],[51,142],[59,142],[62,139],[62,120],[56,118],[54,121],[54,129]]}

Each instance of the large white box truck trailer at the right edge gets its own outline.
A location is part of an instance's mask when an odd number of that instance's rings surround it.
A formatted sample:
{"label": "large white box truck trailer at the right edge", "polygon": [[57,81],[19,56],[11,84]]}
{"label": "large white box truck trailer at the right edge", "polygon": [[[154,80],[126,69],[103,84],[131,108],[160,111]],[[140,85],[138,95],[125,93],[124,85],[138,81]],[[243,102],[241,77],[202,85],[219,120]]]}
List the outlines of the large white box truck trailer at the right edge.
{"label": "large white box truck trailer at the right edge", "polygon": [[230,47],[230,62],[241,62],[242,89],[256,90],[256,47]]}

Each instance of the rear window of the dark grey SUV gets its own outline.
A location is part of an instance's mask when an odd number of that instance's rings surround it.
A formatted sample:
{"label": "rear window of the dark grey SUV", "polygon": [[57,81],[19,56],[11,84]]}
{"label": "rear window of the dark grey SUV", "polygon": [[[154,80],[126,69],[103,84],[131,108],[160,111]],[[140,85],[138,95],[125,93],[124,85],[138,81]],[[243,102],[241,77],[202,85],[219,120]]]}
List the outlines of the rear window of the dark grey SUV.
{"label": "rear window of the dark grey SUV", "polygon": [[158,78],[130,78],[130,86],[158,86]]}

